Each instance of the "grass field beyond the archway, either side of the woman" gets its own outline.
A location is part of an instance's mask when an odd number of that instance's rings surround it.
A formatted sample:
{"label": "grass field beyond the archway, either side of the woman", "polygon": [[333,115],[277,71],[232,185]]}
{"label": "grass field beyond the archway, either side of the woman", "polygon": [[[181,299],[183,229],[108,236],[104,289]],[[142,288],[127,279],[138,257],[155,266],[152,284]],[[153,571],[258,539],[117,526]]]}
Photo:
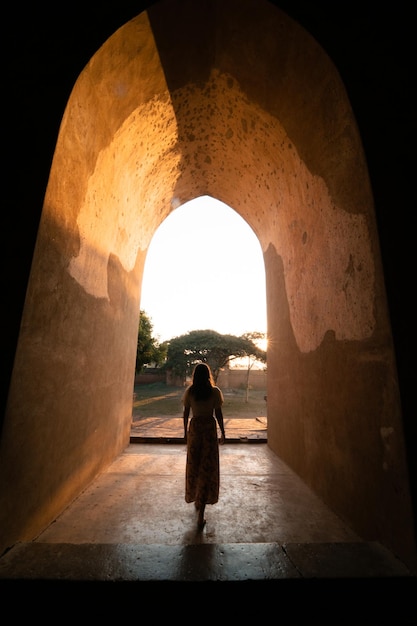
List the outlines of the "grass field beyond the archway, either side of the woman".
{"label": "grass field beyond the archway, either side of the woman", "polygon": [[[133,421],[144,417],[182,417],[181,399],[184,387],[171,387],[165,383],[136,385],[133,399]],[[255,418],[266,416],[264,390],[249,390],[248,401],[244,389],[223,392],[225,418]]]}

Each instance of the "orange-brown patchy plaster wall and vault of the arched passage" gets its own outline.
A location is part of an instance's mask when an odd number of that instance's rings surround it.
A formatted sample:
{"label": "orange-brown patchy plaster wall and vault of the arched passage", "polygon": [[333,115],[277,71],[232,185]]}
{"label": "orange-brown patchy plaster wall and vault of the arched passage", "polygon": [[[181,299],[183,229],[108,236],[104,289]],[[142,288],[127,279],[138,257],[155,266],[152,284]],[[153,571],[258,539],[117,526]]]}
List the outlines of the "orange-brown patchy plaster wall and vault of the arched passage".
{"label": "orange-brown patchy plaster wall and vault of the arched passage", "polygon": [[[264,251],[269,445],[360,534],[410,554],[393,349],[355,120],[323,51],[250,0],[206,14],[196,3],[155,5],[74,86],[2,439],[0,548],[35,536],[127,445],[146,250],[164,218],[200,195],[232,206]],[[202,234],[201,249],[214,247]]]}

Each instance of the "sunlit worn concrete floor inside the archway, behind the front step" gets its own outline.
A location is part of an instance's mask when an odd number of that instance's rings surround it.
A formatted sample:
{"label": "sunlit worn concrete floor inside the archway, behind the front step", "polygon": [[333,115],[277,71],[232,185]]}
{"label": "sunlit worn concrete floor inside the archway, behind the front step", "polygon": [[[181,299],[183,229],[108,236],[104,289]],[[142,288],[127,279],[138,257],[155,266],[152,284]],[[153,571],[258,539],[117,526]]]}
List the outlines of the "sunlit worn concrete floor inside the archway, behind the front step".
{"label": "sunlit worn concrete floor inside the archway, behind the front step", "polygon": [[131,444],[37,539],[47,543],[227,544],[360,539],[264,444],[220,446],[219,502],[197,530],[184,500],[184,445]]}

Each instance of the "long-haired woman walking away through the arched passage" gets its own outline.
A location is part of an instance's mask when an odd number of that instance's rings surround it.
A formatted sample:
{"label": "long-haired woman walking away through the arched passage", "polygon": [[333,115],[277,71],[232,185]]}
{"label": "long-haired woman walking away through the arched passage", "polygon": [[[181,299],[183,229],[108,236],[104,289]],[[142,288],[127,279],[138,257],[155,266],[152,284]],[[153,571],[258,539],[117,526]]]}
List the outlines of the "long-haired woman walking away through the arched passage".
{"label": "long-haired woman walking away through the arched passage", "polygon": [[[187,444],[185,501],[195,503],[198,511],[198,528],[202,530],[206,523],[204,519],[206,504],[215,504],[219,499],[217,424],[221,432],[220,443],[223,444],[226,438],[222,412],[223,394],[215,386],[211,370],[206,363],[195,366],[193,382],[185,391],[183,404],[184,439]],[[192,419],[188,427],[190,411]]]}

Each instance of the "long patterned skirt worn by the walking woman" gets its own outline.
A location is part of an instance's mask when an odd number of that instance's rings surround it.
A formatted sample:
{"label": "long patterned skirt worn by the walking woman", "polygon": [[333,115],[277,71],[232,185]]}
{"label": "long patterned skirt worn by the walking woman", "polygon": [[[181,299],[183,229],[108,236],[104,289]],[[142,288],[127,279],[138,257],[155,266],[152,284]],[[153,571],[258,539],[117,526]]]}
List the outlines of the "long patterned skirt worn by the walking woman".
{"label": "long patterned skirt worn by the walking woman", "polygon": [[215,504],[219,500],[220,461],[214,417],[193,417],[187,433],[185,501]]}

